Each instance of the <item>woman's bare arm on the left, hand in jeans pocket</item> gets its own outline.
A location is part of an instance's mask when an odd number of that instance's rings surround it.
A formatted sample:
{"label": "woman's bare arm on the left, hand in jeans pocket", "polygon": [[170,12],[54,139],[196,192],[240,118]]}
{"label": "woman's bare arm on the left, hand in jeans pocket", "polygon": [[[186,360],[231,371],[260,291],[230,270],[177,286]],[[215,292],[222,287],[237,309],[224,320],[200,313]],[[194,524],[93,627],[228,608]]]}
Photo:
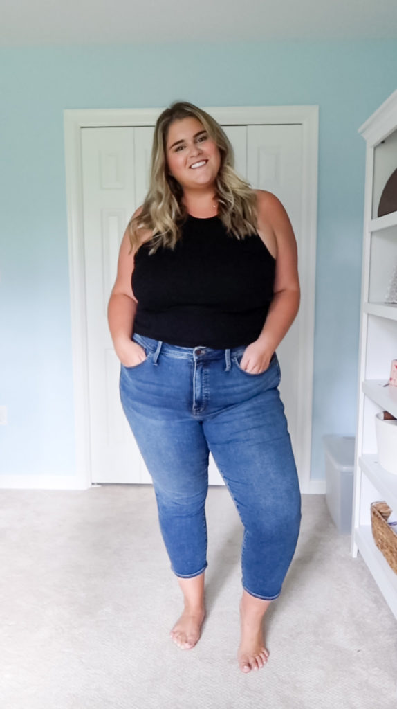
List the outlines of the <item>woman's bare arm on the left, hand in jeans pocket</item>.
{"label": "woman's bare arm on the left, hand in jeans pocket", "polygon": [[137,300],[131,285],[133,270],[134,252],[131,252],[130,238],[126,230],[120,246],[117,277],[108,305],[110,335],[117,357],[125,367],[134,367],[146,357],[142,347],[131,340],[137,311]]}

